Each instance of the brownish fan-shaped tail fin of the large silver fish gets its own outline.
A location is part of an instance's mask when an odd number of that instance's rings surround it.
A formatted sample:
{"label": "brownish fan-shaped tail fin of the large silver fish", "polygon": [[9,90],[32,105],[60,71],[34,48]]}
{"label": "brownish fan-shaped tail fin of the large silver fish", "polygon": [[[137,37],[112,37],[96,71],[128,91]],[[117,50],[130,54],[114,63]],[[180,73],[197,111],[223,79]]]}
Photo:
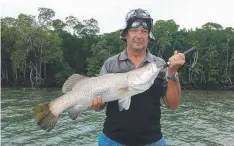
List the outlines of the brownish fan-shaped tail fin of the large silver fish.
{"label": "brownish fan-shaped tail fin of the large silver fish", "polygon": [[49,107],[49,103],[38,105],[33,109],[33,114],[37,120],[37,125],[42,129],[51,131],[56,125],[59,116],[55,116]]}

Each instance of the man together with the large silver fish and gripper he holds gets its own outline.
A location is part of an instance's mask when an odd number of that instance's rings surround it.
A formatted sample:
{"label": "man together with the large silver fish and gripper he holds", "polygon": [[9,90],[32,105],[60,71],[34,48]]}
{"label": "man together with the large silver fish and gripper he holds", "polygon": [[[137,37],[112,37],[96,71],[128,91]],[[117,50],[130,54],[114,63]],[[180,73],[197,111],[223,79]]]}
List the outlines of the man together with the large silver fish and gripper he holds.
{"label": "man together with the large silver fish and gripper he holds", "polygon": [[[187,52],[165,62],[147,49],[153,19],[146,10],[134,9],[126,15],[121,39],[126,49],[108,58],[100,76],[71,75],[62,87],[63,95],[33,108],[40,128],[51,131],[60,115],[76,120],[87,108],[100,111],[106,107],[100,146],[164,146],[161,131],[161,100],[172,110],[180,105],[181,88],[177,70],[185,63]],[[79,118],[78,118],[79,120]]]}

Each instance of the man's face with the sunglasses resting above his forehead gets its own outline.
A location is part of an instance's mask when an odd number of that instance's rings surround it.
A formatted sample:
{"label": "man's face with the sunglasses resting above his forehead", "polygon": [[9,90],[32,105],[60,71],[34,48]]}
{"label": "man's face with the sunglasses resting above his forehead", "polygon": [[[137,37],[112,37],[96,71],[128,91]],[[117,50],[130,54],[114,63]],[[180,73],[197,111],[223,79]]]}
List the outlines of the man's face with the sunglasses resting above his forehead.
{"label": "man's face with the sunglasses resting above his forehead", "polygon": [[149,41],[149,30],[145,22],[133,22],[126,34],[127,47],[141,51],[146,50]]}

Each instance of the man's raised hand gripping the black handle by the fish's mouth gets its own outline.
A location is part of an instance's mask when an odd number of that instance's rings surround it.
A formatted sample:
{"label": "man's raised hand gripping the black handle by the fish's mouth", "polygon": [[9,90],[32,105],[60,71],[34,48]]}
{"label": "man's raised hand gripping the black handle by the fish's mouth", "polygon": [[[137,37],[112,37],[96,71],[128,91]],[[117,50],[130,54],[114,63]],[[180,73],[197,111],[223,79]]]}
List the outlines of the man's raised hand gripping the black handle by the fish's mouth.
{"label": "man's raised hand gripping the black handle by the fish's mouth", "polygon": [[170,65],[168,67],[168,75],[175,75],[177,70],[184,65],[185,56],[178,51],[174,51],[174,55],[169,58]]}

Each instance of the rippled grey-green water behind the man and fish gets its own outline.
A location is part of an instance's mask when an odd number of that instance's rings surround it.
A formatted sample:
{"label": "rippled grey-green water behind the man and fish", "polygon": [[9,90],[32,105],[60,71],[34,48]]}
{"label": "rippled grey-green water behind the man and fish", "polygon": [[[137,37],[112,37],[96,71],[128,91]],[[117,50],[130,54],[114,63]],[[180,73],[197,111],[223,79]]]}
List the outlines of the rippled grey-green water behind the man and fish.
{"label": "rippled grey-green water behind the man and fish", "polygon": [[[61,95],[60,90],[2,91],[1,143],[4,146],[97,145],[104,112],[86,110],[77,120],[63,113],[51,132],[41,130],[31,110]],[[234,94],[184,91],[178,111],[162,107],[162,130],[172,146],[234,146]]]}

